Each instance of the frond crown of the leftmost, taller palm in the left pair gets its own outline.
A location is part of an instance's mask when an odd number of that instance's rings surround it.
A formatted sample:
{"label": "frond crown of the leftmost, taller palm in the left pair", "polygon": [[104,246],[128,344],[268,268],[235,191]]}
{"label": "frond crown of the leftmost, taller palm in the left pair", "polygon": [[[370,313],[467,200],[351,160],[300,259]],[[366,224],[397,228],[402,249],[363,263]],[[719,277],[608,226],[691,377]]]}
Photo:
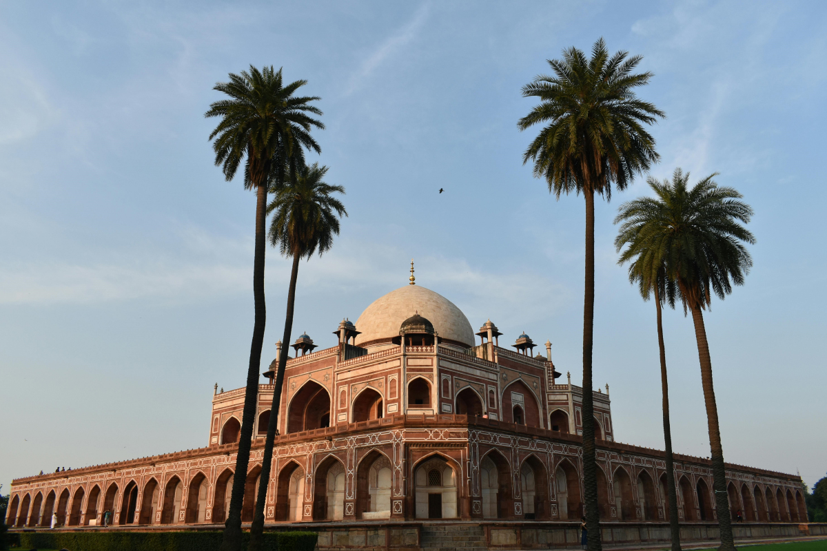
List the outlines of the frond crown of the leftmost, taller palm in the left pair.
{"label": "frond crown of the leftmost, taller palm in the left pair", "polygon": [[264,183],[271,171],[274,159],[285,160],[302,155],[300,146],[320,151],[318,143],[310,135],[312,127],[324,125],[311,115],[322,112],[310,102],[315,96],[294,97],[296,90],[307,83],[296,80],[284,86],[281,69],[272,66],[241,74],[230,74],[230,82],[218,83],[213,88],[226,93],[230,99],[213,102],[204,116],[221,116],[222,120],[209,135],[215,150],[215,164],[223,165],[224,176],[235,176],[245,156],[244,184],[252,188]]}

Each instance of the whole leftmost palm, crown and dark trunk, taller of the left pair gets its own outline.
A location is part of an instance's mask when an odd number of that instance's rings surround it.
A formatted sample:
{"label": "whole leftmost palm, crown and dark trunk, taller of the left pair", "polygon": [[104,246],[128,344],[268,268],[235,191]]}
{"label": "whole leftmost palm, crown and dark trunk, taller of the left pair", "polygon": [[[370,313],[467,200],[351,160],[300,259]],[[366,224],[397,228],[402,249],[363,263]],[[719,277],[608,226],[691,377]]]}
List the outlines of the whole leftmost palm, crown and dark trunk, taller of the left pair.
{"label": "whole leftmost palm, crown and dark trunk, taller of the left pair", "polygon": [[[222,551],[241,549],[241,504],[244,501],[244,482],[250,463],[250,445],[256,420],[261,346],[264,343],[265,297],[265,219],[270,176],[278,173],[294,160],[302,158],[302,148],[320,151],[310,136],[310,129],[324,128],[310,115],[321,115],[318,107],[310,105],[318,97],[295,97],[296,90],[307,83],[297,80],[284,86],[281,69],[256,69],[241,74],[230,74],[230,81],[217,83],[213,90],[226,93],[229,99],[213,102],[204,116],[219,116],[221,121],[209,135],[215,150],[215,164],[221,165],[229,182],[245,161],[244,188],[256,191],[256,248],[253,261],[253,298],[256,318],[250,346],[250,363],[244,394],[244,412],[241,417],[241,436],[238,440],[236,477],[232,483],[230,511],[227,514]],[[275,165],[275,166],[274,166]],[[266,487],[266,484],[263,484]]]}

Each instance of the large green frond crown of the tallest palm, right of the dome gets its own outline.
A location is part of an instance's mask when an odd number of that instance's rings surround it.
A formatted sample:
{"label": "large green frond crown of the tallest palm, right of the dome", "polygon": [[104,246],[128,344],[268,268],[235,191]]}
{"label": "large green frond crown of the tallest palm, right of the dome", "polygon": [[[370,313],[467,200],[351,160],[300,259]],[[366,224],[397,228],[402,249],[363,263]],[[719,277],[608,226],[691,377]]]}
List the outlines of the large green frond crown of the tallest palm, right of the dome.
{"label": "large green frond crown of the tallest palm, right of the dome", "polygon": [[542,102],[520,119],[519,129],[548,123],[523,154],[523,164],[533,160],[534,175],[546,178],[558,199],[584,190],[609,198],[611,183],[624,189],[659,159],[643,125],[665,115],[634,93],[653,75],[632,74],[643,58],[627,55],[609,57],[601,38],[591,59],[574,47],[563,50],[562,60],[548,60],[553,76],[539,75],[523,87],[523,97]]}

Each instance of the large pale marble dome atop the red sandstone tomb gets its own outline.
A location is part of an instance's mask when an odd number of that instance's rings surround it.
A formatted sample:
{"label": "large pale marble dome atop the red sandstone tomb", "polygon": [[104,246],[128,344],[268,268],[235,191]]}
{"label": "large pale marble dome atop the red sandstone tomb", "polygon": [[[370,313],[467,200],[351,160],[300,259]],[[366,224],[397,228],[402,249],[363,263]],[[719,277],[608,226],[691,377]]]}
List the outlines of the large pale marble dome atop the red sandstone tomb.
{"label": "large pale marble dome atop the red sandstone tomb", "polygon": [[361,331],[356,345],[398,336],[402,322],[417,312],[433,324],[441,339],[474,346],[474,331],[465,314],[446,297],[420,285],[399,287],[370,304],[356,320],[356,330]]}

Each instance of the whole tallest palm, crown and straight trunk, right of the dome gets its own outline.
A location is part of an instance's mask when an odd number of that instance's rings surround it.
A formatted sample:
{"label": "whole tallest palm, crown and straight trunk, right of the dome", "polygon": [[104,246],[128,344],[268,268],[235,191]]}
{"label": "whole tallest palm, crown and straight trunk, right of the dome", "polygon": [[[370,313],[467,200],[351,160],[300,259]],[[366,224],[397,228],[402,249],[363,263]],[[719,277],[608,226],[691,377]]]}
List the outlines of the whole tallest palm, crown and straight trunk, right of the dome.
{"label": "whole tallest palm, crown and straight trunk, right of the dome", "polygon": [[655,140],[644,128],[664,116],[643,102],[634,88],[651,73],[633,74],[642,59],[619,51],[609,57],[601,38],[591,59],[574,47],[563,59],[549,59],[553,76],[540,75],[523,87],[523,96],[541,102],[519,121],[519,129],[546,124],[523,154],[532,160],[534,176],[545,178],[549,192],[583,193],[586,197],[586,292],[583,307],[583,477],[586,489],[586,525],[589,549],[601,549],[597,510],[595,420],[591,394],[591,350],[595,314],[595,192],[611,197],[635,174],[648,170],[659,156]]}

